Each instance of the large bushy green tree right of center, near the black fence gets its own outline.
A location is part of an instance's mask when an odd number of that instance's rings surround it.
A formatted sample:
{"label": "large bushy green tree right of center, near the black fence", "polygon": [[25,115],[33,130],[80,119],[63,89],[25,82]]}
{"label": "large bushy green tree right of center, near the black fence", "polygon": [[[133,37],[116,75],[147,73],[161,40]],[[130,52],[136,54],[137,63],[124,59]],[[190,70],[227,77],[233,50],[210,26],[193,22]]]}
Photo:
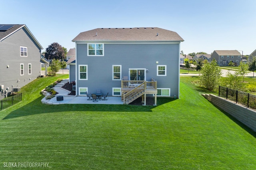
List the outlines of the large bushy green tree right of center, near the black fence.
{"label": "large bushy green tree right of center, near the black fence", "polygon": [[216,59],[213,59],[210,63],[205,62],[201,69],[200,83],[206,89],[212,91],[219,85],[221,75],[222,71],[218,67]]}

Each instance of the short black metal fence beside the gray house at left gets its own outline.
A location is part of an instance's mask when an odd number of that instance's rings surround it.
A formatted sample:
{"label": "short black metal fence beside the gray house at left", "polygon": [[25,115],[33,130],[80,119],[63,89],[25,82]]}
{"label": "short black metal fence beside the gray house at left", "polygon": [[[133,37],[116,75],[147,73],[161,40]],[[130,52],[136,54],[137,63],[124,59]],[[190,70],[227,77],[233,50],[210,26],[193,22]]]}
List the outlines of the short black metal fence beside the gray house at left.
{"label": "short black metal fence beside the gray house at left", "polygon": [[0,110],[22,101],[22,93],[8,93],[6,95],[0,93],[0,96]]}

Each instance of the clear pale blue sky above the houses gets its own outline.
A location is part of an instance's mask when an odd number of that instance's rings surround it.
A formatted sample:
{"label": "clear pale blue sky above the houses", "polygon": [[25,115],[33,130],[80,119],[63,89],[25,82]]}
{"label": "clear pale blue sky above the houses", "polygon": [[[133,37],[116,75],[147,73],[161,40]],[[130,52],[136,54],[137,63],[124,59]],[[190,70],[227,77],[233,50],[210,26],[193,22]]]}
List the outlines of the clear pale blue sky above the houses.
{"label": "clear pale blue sky above the houses", "polygon": [[177,32],[180,50],[256,49],[256,0],[0,0],[0,24],[26,24],[44,48],[96,28],[158,27]]}

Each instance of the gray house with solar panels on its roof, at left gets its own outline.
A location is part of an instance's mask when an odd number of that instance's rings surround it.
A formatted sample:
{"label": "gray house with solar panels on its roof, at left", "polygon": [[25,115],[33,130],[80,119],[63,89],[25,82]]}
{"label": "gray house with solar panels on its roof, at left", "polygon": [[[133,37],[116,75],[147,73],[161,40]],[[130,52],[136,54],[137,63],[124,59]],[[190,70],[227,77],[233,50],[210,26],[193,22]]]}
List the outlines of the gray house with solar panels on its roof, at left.
{"label": "gray house with solar panels on its roof, at left", "polygon": [[0,25],[0,85],[18,91],[41,75],[41,49],[27,26]]}

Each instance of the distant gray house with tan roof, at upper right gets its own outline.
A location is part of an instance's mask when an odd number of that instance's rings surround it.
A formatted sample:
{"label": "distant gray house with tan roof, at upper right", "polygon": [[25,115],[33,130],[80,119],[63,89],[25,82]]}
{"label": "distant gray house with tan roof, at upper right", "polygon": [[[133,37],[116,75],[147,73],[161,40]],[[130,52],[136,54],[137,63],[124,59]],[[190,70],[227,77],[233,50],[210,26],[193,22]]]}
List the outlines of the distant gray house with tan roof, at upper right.
{"label": "distant gray house with tan roof, at upper right", "polygon": [[211,60],[216,59],[219,66],[228,66],[228,63],[232,61],[235,66],[240,65],[242,55],[237,50],[214,50],[211,54]]}

